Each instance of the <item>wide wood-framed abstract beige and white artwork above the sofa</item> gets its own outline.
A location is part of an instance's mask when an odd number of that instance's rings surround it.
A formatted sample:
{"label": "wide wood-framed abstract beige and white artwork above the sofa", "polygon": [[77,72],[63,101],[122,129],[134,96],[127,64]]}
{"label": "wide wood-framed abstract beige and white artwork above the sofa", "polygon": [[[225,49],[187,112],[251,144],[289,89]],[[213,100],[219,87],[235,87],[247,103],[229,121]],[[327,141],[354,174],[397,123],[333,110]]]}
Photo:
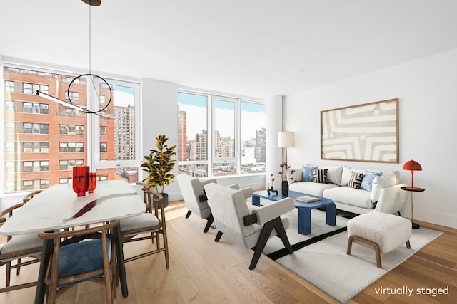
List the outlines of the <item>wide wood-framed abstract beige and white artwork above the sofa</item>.
{"label": "wide wood-framed abstract beige and white artwork above the sofa", "polygon": [[321,159],[398,164],[398,98],[321,111]]}

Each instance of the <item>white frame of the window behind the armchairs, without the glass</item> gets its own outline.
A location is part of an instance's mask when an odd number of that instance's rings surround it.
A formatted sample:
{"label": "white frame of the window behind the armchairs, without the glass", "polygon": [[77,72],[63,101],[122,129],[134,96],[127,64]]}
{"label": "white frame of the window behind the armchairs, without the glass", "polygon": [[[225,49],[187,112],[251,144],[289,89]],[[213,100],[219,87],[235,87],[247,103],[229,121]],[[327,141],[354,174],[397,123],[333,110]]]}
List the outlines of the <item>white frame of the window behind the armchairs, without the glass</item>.
{"label": "white frame of the window behind the armchairs, without the glass", "polygon": [[[184,174],[189,174],[193,175],[195,177],[221,177],[221,176],[230,176],[230,177],[236,177],[236,176],[246,176],[248,174],[265,174],[265,167],[263,165],[263,171],[258,170],[255,173],[249,172],[243,172],[242,168],[242,138],[241,138],[241,104],[242,103],[255,103],[258,105],[263,105],[266,107],[266,103],[264,100],[261,99],[256,99],[256,98],[245,98],[242,96],[236,96],[236,95],[229,95],[229,94],[221,94],[221,93],[214,93],[211,91],[202,91],[202,90],[193,90],[189,88],[179,88],[178,90],[179,93],[185,93],[185,94],[193,94],[193,95],[200,95],[200,96],[205,96],[207,99],[207,104],[206,104],[206,133],[207,133],[207,139],[206,139],[206,149],[207,149],[207,159],[199,159],[199,160],[178,160],[178,167],[179,167],[179,173],[184,173]],[[219,100],[224,103],[233,103],[233,149],[234,153],[233,155],[224,155],[224,157],[218,157],[216,155],[216,140],[217,136],[216,135],[216,125],[217,125],[217,119],[218,117],[216,116],[216,100]],[[180,122],[179,122],[180,123]],[[266,128],[266,121],[265,121],[265,128]],[[188,134],[189,135],[189,134]],[[224,134],[222,134],[224,136]],[[180,137],[180,135],[179,135]],[[188,136],[189,137],[189,136]],[[179,143],[181,144],[181,140],[179,140]],[[183,151],[179,147],[179,151]],[[233,171],[233,174],[219,174],[218,172],[215,172],[214,170],[216,169],[216,165],[221,165],[221,164],[228,164],[228,166],[232,166],[234,164],[235,169]],[[195,173],[195,172],[186,172],[186,167],[192,167],[192,166],[201,166],[204,167],[206,166],[206,174],[201,174],[201,173]]]}

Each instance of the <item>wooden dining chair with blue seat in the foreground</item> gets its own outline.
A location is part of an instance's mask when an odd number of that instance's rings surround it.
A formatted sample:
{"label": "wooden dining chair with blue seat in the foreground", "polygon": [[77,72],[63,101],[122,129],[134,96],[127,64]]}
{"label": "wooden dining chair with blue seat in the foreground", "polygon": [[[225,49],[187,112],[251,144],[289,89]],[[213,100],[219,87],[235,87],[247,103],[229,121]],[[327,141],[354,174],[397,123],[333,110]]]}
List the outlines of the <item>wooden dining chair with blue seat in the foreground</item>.
{"label": "wooden dining chair with blue seat in the foreground", "polygon": [[110,229],[118,225],[116,219],[84,229],[38,233],[41,239],[54,242],[44,278],[46,303],[55,303],[56,298],[84,281],[104,284],[106,302],[113,303],[119,277]]}

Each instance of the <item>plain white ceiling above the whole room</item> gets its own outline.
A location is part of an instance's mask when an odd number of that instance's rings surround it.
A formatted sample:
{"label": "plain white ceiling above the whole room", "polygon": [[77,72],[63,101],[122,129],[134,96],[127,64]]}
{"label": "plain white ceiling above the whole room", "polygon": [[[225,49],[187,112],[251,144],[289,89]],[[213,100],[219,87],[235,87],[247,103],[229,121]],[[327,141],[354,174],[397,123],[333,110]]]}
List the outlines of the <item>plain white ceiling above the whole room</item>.
{"label": "plain white ceiling above the whole room", "polygon": [[265,98],[457,48],[455,0],[101,2],[2,0],[0,54]]}

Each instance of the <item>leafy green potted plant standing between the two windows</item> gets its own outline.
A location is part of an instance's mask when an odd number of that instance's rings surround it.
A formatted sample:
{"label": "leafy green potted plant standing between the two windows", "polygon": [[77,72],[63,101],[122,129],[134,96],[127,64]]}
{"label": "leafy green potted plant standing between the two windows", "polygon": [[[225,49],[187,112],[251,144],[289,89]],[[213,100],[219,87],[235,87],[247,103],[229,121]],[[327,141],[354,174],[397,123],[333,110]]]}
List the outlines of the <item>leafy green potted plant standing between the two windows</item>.
{"label": "leafy green potted plant standing between the two windows", "polygon": [[166,145],[168,138],[165,135],[156,136],[157,150],[149,150],[149,155],[144,156],[141,163],[141,169],[148,172],[148,177],[143,179],[150,188],[155,187],[156,192],[164,196],[164,206],[168,206],[168,194],[164,193],[164,186],[171,184],[174,174],[171,171],[174,168],[176,159],[171,159],[176,155],[174,150],[176,145],[169,147]]}

